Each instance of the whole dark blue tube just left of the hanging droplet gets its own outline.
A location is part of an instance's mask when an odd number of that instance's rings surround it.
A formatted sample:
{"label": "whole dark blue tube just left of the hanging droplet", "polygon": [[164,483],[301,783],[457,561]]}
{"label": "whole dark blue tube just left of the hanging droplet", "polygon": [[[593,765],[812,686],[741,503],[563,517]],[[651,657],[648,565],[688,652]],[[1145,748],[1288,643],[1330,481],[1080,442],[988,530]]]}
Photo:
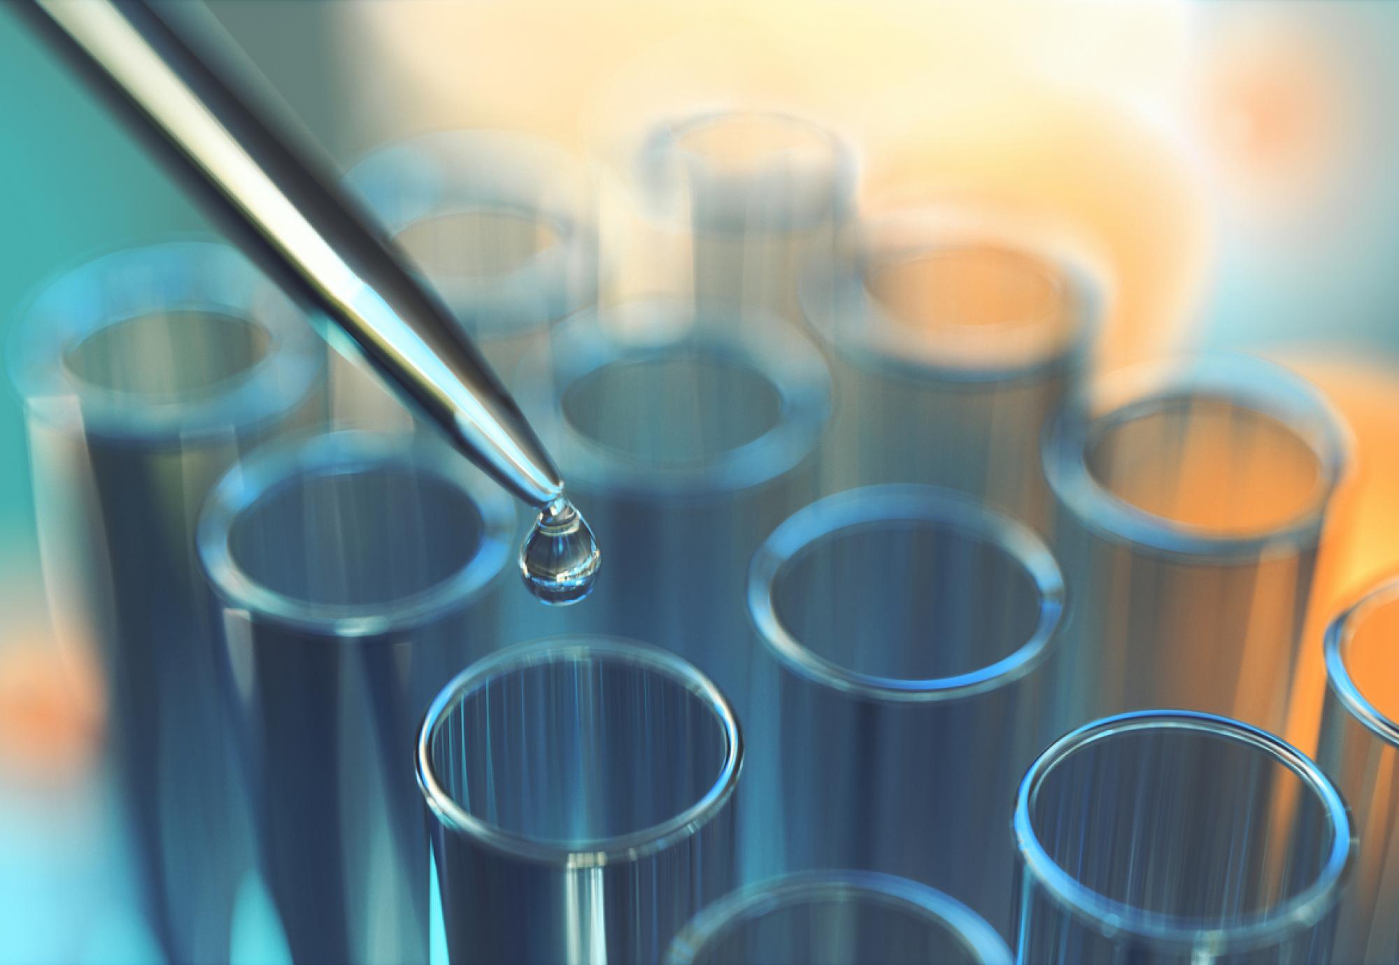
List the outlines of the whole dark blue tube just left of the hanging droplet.
{"label": "whole dark blue tube just left of the hanging droplet", "polygon": [[211,494],[199,554],[262,870],[292,962],[424,962],[417,724],[490,652],[509,498],[427,435],[259,450]]}

